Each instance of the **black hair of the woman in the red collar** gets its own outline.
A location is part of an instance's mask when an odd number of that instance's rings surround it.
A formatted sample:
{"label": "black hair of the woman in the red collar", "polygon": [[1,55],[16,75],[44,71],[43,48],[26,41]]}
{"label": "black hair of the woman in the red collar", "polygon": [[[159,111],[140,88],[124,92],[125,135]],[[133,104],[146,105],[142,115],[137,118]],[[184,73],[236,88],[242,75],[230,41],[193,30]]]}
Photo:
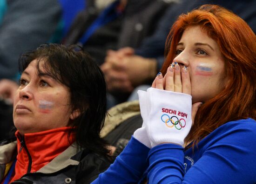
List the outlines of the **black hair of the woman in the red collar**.
{"label": "black hair of the woman in the red collar", "polygon": [[79,146],[99,154],[108,154],[106,142],[100,137],[106,116],[106,82],[99,66],[77,45],[42,44],[35,51],[20,56],[22,73],[29,63],[43,63],[43,73],[68,87],[72,111],[80,115],[72,121]]}

